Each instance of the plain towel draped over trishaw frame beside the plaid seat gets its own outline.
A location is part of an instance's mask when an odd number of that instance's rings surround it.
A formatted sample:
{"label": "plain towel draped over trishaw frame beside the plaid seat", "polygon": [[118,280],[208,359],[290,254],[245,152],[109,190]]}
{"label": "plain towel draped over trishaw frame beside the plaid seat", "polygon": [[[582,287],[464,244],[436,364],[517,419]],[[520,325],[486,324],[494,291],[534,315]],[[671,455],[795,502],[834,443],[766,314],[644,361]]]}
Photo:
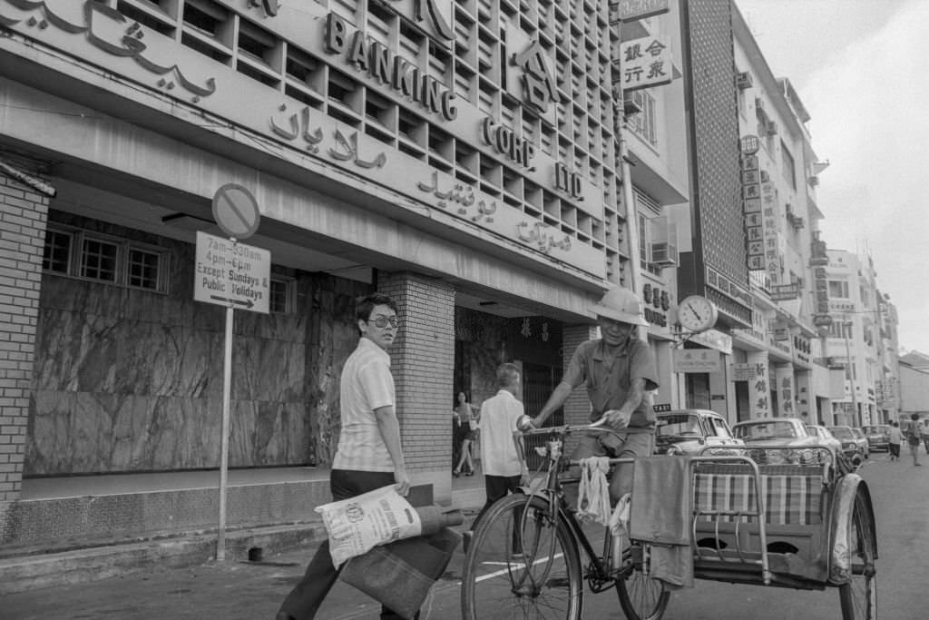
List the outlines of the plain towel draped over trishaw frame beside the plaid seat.
{"label": "plain towel draped over trishaw frame beside the plaid seat", "polygon": [[649,576],[694,587],[690,548],[690,457],[635,459],[629,536],[652,545]]}

